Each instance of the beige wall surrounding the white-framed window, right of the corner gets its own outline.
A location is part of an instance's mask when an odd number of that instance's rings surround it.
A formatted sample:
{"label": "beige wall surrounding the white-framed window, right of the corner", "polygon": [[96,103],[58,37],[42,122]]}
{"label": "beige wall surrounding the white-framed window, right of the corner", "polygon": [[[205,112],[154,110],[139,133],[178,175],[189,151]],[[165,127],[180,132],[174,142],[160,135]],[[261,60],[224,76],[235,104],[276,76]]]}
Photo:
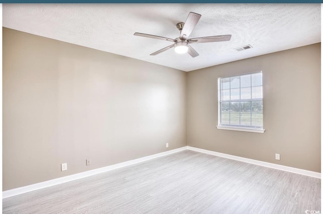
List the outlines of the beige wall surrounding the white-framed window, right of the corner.
{"label": "beige wall surrounding the white-framed window, right of the corner", "polygon": [[[217,129],[218,78],[258,70],[266,131]],[[188,146],[320,172],[320,43],[195,70],[187,87]]]}

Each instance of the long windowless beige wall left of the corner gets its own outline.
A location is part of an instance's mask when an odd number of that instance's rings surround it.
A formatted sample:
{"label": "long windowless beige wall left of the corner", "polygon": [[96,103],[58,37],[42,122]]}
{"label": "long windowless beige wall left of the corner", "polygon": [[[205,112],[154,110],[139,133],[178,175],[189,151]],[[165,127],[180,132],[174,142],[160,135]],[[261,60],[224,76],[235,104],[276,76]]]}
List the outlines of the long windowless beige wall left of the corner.
{"label": "long windowless beige wall left of the corner", "polygon": [[186,77],[3,28],[3,190],[186,146]]}

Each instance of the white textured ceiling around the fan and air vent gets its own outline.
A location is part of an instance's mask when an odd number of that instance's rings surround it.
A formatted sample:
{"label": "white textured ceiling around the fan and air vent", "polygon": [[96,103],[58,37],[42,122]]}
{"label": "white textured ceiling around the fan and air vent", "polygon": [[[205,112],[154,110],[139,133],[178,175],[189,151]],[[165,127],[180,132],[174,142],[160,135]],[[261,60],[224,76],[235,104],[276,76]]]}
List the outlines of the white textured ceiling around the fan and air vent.
{"label": "white textured ceiling around the fan and air vent", "polygon": [[[236,61],[320,42],[320,4],[4,4],[3,26],[180,70]],[[135,32],[179,37],[189,12],[202,17],[189,38],[232,34],[230,41],[198,43],[199,53],[174,49],[150,56],[172,42]],[[236,51],[250,44],[253,48]]]}

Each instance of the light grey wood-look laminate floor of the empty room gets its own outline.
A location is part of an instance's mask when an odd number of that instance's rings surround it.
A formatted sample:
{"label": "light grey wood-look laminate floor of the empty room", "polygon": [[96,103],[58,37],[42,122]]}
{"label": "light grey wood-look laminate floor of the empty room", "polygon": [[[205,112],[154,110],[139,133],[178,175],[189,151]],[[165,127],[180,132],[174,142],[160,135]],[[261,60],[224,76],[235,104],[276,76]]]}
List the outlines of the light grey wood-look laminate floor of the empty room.
{"label": "light grey wood-look laminate floor of the empty room", "polygon": [[193,151],[3,199],[3,213],[304,214],[320,179]]}

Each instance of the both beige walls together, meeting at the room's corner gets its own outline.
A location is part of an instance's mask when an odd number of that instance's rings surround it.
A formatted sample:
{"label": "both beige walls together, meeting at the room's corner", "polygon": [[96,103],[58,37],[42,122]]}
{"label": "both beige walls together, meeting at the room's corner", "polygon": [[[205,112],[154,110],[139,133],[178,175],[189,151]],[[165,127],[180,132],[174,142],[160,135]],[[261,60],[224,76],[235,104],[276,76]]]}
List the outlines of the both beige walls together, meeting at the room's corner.
{"label": "both beige walls together, meeting at the room's corner", "polygon": [[[217,129],[217,79],[257,70],[265,133]],[[320,172],[320,43],[185,73],[3,28],[3,190],[186,145]]]}

